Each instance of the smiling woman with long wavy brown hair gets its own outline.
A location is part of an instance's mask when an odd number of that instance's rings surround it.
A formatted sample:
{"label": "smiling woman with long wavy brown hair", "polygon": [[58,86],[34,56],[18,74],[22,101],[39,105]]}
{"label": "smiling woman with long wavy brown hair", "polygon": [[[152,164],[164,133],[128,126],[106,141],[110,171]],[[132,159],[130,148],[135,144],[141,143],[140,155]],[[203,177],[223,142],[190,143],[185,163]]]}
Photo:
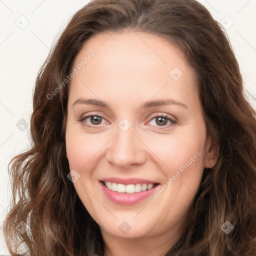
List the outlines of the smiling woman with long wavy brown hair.
{"label": "smiling woman with long wavy brown hair", "polygon": [[256,254],[255,112],[197,1],[81,8],[38,74],[31,138],[12,255]]}

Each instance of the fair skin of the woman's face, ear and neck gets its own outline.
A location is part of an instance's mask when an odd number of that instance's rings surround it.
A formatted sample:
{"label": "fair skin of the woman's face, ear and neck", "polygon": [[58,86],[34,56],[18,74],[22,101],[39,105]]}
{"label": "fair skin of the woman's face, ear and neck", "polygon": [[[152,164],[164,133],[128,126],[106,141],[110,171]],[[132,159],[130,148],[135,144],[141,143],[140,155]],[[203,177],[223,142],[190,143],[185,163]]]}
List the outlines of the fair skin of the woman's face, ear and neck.
{"label": "fair skin of the woman's face, ear and neck", "polygon": [[[78,52],[73,67],[94,48],[98,54],[75,74],[68,94],[65,139],[70,170],[80,175],[73,183],[75,190],[100,226],[105,256],[164,255],[182,235],[204,168],[216,162],[195,72],[177,47],[132,30],[94,35]],[[178,80],[169,75],[173,67],[183,73]],[[73,105],[78,98],[100,99],[109,108]],[[141,108],[157,99],[172,99],[186,107]],[[99,124],[90,118],[79,121],[90,114],[103,118]],[[177,122],[161,124],[156,114]],[[123,118],[131,124],[127,131],[118,126]],[[145,178],[163,185],[198,151],[200,156],[154,202],[145,198],[120,205],[110,201],[99,185],[103,177]],[[118,228],[123,221],[130,226],[126,233]]]}

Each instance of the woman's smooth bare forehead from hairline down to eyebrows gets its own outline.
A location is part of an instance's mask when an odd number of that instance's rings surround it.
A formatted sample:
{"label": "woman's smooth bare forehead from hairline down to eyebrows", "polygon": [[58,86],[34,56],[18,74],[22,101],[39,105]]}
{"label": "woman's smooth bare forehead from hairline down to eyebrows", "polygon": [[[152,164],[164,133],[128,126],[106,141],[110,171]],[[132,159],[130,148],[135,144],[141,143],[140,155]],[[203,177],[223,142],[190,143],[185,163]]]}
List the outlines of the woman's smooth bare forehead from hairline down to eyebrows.
{"label": "woman's smooth bare forehead from hairline down to eyebrows", "polygon": [[196,92],[195,72],[182,51],[154,34],[133,30],[96,34],[83,44],[73,68],[78,72],[70,82],[72,95],[85,90],[101,96],[107,91],[126,97],[139,93],[148,100],[170,90],[173,95],[178,90]]}

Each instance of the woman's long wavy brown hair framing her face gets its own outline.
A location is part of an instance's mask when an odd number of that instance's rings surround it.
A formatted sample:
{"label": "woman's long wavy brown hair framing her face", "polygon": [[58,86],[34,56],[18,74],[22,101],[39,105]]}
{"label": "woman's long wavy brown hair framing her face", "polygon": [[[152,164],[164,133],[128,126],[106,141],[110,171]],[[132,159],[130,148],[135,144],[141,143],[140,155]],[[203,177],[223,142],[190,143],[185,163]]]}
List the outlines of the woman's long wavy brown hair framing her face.
{"label": "woman's long wavy brown hair framing her face", "polygon": [[[31,148],[9,163],[13,200],[3,226],[9,251],[18,255],[23,244],[35,256],[103,255],[99,226],[67,178],[68,83],[49,94],[88,38],[126,28],[160,36],[184,52],[219,149],[215,166],[204,169],[184,235],[165,255],[256,255],[255,111],[225,33],[195,0],[93,0],[73,15],[36,79]],[[20,221],[29,227],[24,234],[16,230]],[[226,221],[234,227],[228,234],[221,228]]]}

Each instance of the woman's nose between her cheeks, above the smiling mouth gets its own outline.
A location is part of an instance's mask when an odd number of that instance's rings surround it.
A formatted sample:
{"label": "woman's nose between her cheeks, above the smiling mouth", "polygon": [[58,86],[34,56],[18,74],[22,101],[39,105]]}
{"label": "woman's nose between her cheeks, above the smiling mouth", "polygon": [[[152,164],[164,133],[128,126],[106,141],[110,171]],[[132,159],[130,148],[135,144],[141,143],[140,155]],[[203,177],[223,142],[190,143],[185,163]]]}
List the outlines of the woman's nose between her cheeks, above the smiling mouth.
{"label": "woman's nose between her cheeks, above the smiling mouth", "polygon": [[146,160],[145,145],[137,134],[134,134],[132,126],[126,131],[117,126],[116,134],[108,146],[106,159],[120,168],[142,164]]}

